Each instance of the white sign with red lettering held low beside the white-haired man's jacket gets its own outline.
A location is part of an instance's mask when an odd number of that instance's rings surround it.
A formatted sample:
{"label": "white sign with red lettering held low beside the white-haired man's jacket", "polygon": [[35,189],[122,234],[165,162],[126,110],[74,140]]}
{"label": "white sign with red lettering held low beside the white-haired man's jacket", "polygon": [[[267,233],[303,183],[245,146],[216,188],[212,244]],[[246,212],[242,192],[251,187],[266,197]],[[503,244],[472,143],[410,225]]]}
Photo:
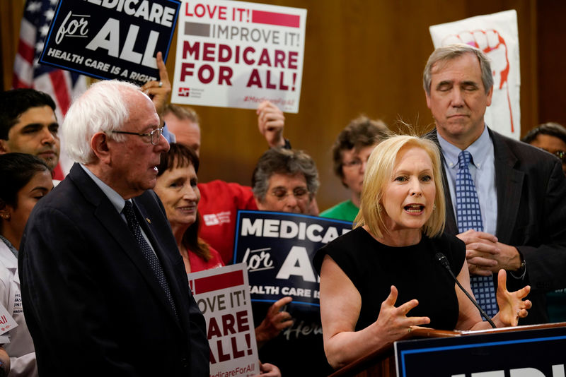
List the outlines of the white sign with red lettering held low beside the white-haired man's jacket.
{"label": "white sign with red lettering held low beside the white-haired man's jacket", "polygon": [[190,273],[188,278],[207,321],[210,376],[260,374],[246,265]]}

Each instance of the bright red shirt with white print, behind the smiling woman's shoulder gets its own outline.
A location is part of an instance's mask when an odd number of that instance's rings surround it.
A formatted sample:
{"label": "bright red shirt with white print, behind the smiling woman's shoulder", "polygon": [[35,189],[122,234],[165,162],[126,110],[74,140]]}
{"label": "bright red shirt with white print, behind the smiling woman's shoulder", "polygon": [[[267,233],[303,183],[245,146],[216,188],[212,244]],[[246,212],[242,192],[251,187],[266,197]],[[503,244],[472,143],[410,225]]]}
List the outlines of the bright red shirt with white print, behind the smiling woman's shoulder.
{"label": "bright red shirt with white print, behind the smiling woman's shoulder", "polygon": [[252,189],[219,180],[198,184],[198,188],[199,213],[203,220],[199,236],[219,251],[225,264],[231,264],[238,210],[258,209]]}

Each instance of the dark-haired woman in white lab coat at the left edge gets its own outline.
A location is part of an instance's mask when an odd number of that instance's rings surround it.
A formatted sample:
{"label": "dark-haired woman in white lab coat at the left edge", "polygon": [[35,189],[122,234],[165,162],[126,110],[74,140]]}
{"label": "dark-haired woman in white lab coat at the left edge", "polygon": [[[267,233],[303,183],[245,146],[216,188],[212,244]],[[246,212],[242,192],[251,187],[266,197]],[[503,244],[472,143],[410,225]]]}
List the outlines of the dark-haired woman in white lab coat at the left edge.
{"label": "dark-haired woman in white lab coat at the left edge", "polygon": [[0,155],[0,177],[0,304],[18,323],[8,331],[5,345],[10,376],[37,376],[33,340],[23,316],[18,249],[33,206],[52,190],[53,182],[47,164],[24,153]]}

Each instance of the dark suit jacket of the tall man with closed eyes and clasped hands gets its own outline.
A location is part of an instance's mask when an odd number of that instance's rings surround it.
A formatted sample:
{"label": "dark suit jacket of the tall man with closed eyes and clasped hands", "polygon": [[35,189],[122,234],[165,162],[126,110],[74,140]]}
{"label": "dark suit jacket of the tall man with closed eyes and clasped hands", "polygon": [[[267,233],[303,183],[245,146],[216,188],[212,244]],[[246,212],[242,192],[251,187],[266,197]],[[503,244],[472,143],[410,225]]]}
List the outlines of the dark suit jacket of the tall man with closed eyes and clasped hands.
{"label": "dark suit jacket of the tall man with closed eyes and clasped hands", "polygon": [[[529,316],[519,324],[548,322],[545,292],[566,287],[566,179],[550,153],[507,138],[488,128],[495,154],[497,231],[503,244],[515,246],[526,261],[526,277],[507,273],[509,292],[531,285]],[[437,133],[430,133],[436,139]],[[444,161],[444,157],[442,157]],[[446,232],[458,234],[444,171]],[[497,274],[493,275],[497,287]]]}

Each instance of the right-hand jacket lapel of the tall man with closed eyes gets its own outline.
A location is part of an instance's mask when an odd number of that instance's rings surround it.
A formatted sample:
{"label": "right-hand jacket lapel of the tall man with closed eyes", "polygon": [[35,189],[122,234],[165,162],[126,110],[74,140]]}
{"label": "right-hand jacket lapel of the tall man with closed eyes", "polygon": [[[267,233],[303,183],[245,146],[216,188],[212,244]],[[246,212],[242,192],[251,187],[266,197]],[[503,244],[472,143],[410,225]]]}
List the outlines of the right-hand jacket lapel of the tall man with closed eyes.
{"label": "right-hand jacket lapel of the tall man with closed eyes", "polygon": [[523,190],[524,172],[515,169],[517,157],[502,136],[492,130],[495,155],[495,184],[497,185],[497,230],[500,242],[508,244],[515,227]]}

